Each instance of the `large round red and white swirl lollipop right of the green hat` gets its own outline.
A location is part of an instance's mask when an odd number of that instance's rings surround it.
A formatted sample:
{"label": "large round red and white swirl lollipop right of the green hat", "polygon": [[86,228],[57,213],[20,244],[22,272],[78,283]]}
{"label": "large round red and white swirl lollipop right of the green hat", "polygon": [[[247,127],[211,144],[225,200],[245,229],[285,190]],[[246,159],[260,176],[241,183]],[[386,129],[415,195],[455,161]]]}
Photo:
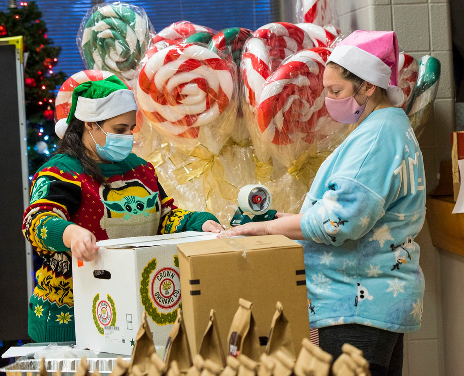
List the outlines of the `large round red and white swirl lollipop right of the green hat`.
{"label": "large round red and white swirl lollipop right of the green hat", "polygon": [[188,146],[201,142],[218,152],[233,128],[236,76],[230,58],[200,45],[172,45],[142,67],[135,97],[162,135]]}

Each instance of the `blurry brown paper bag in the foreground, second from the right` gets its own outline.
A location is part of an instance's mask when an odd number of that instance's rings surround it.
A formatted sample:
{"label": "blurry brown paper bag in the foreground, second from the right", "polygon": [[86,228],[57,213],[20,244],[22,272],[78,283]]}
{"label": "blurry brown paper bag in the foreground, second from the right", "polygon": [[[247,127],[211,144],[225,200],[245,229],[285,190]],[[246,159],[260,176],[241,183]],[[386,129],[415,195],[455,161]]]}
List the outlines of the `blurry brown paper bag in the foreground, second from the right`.
{"label": "blurry brown paper bag in the foreground, second from the right", "polygon": [[296,359],[294,372],[296,376],[327,376],[333,357],[304,338],[302,348]]}

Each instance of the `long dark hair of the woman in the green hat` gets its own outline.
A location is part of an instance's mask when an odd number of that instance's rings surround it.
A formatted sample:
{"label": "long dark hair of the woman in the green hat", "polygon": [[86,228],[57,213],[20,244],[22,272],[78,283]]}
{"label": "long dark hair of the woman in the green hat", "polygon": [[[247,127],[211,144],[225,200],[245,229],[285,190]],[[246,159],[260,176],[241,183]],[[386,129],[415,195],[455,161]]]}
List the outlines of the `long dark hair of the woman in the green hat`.
{"label": "long dark hair of the woman in the green hat", "polygon": [[67,154],[76,157],[81,162],[85,174],[92,176],[96,182],[104,187],[109,187],[98,163],[87,155],[87,152],[90,150],[88,150],[82,142],[83,134],[84,122],[76,118],[71,120],[71,123],[69,123],[64,133],[63,139],[58,144],[56,154]]}

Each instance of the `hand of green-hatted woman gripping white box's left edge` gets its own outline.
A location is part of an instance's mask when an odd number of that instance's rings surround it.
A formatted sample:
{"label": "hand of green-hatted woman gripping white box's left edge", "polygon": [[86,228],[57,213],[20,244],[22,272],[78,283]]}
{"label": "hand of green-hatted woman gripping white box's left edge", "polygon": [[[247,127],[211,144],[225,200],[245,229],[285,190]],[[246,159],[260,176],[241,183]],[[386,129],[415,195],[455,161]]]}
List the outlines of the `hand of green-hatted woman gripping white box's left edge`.
{"label": "hand of green-hatted woman gripping white box's left edge", "polygon": [[69,225],[64,229],[63,243],[71,248],[72,255],[79,261],[92,261],[98,251],[95,235],[77,225]]}

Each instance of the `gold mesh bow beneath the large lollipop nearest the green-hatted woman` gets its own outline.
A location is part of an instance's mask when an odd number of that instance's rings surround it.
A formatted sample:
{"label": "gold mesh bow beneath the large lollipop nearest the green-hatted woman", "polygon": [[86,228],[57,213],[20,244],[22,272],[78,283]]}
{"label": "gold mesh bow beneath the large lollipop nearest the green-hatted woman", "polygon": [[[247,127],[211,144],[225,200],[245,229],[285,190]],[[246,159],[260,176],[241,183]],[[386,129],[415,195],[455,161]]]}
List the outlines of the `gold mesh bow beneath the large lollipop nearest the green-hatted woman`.
{"label": "gold mesh bow beneath the large lollipop nearest the green-hatted woman", "polygon": [[183,163],[174,170],[174,176],[179,184],[185,184],[204,175],[203,193],[205,194],[206,208],[211,207],[210,201],[213,191],[226,200],[235,201],[238,188],[224,179],[224,167],[218,155],[215,155],[206,146],[199,143],[193,148],[189,156],[191,157],[190,161]]}

